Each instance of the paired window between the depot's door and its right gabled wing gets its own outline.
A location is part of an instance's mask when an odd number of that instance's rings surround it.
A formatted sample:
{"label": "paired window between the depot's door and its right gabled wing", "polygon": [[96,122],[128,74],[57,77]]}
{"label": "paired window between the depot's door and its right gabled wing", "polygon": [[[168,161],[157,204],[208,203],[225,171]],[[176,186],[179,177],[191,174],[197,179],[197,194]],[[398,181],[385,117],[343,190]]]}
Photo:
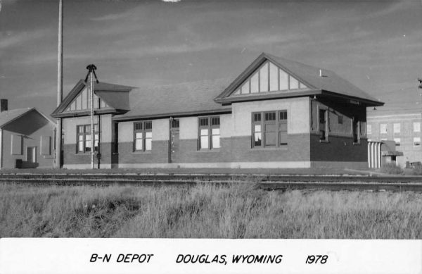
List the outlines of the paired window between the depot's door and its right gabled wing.
{"label": "paired window between the depot's door and its right gabled wing", "polygon": [[200,117],[198,119],[198,149],[219,149],[219,116]]}

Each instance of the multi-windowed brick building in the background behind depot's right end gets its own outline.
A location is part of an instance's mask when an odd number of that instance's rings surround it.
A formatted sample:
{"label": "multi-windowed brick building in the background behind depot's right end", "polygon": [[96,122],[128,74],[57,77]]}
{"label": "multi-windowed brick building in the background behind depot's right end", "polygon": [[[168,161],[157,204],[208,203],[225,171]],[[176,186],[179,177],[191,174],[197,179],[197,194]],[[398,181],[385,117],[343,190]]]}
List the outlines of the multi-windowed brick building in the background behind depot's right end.
{"label": "multi-windowed brick building in the background behind depot's right end", "polygon": [[420,111],[369,111],[367,136],[369,141],[394,141],[397,164],[407,166],[407,162],[422,162]]}

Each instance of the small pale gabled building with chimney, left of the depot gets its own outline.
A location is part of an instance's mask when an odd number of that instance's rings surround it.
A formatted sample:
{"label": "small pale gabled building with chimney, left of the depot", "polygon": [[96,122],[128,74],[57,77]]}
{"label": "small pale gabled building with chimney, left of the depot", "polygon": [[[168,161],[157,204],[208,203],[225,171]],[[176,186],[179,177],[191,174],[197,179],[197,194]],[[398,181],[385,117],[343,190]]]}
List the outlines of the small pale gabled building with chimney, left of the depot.
{"label": "small pale gabled building with chimney, left of the depot", "polygon": [[0,99],[0,169],[53,168],[55,127],[36,108],[8,110]]}

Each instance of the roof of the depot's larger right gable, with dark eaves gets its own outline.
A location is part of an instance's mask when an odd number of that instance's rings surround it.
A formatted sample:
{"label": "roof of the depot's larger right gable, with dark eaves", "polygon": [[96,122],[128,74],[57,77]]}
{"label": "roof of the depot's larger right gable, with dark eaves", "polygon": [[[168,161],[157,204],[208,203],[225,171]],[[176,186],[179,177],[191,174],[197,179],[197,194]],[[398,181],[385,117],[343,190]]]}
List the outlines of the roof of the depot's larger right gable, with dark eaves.
{"label": "roof of the depot's larger right gable, with dark eaves", "polygon": [[[338,76],[331,70],[316,68],[314,66],[305,65],[303,63],[290,61],[286,58],[277,57],[271,54],[262,53],[255,61],[252,62],[248,68],[246,68],[241,75],[239,75],[234,82],[231,82],[231,85],[227,87],[222,94],[219,94],[215,101],[219,103],[230,103],[232,99],[227,98],[238,85],[246,80],[246,78],[253,73],[262,63],[265,61],[271,61],[276,66],[279,66],[282,70],[285,70],[287,73],[293,77],[300,80],[300,82],[305,83],[310,91],[305,92],[287,92],[287,93],[272,93],[267,92],[265,95],[259,94],[257,96],[269,96],[271,98],[283,98],[286,96],[309,96],[314,94],[327,94],[331,96],[345,96],[350,99],[357,99],[358,101],[364,101],[368,106],[382,106],[383,103],[374,99],[366,92],[362,91],[358,87],[354,86],[352,83]],[[320,76],[320,70],[322,77]],[[272,94],[271,94],[272,93]],[[248,99],[245,97],[245,99]]]}

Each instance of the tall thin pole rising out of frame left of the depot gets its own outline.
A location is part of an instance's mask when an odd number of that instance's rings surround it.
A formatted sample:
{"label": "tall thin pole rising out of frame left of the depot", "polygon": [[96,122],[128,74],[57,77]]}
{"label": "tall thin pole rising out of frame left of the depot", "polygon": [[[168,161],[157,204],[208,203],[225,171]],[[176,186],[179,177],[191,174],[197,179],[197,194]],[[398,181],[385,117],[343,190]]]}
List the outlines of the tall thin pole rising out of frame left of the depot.
{"label": "tall thin pole rising out of frame left of the depot", "polygon": [[[57,61],[57,106],[63,100],[63,0],[58,2],[58,61]],[[62,120],[57,118],[56,125],[56,163],[61,167]]]}

